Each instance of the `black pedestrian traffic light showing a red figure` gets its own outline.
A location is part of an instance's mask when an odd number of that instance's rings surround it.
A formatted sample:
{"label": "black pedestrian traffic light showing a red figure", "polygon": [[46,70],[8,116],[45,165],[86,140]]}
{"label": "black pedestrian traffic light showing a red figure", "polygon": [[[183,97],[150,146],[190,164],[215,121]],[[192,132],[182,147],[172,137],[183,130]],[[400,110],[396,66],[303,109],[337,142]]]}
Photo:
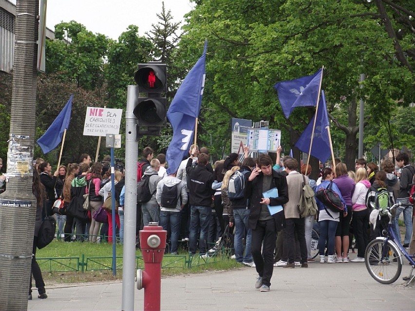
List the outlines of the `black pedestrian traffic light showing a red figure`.
{"label": "black pedestrian traffic light showing a red figure", "polygon": [[134,80],[138,84],[139,92],[146,93],[145,97],[138,97],[138,104],[132,111],[138,120],[138,126],[147,127],[149,131],[159,131],[166,126],[166,97],[162,93],[167,91],[166,64],[149,62],[138,64]]}

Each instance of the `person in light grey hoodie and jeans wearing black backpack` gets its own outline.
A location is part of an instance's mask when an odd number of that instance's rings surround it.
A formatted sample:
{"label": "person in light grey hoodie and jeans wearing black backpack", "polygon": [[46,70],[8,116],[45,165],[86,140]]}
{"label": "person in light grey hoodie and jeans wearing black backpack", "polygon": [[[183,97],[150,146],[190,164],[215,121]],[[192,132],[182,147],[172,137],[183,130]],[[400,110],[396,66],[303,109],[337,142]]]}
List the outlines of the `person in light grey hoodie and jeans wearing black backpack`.
{"label": "person in light grey hoodie and jeans wearing black backpack", "polygon": [[[170,236],[170,254],[177,254],[177,247],[179,244],[180,236],[180,218],[183,207],[188,202],[188,192],[186,183],[175,177],[175,174],[171,174],[163,178],[157,184],[156,201],[160,205],[160,226],[168,232]],[[167,192],[170,188],[174,187],[177,192],[175,207],[167,207],[167,195],[163,193],[163,190]],[[163,198],[164,197],[164,198]],[[170,202],[171,204],[171,202]]]}

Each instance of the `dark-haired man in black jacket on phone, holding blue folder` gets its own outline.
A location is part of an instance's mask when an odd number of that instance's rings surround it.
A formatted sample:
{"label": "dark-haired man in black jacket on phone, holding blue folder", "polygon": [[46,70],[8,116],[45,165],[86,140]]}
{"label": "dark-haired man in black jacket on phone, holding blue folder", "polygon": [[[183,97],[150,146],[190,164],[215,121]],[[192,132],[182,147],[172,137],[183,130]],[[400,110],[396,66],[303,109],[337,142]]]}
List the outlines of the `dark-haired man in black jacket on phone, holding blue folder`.
{"label": "dark-haired man in black jacket on phone, holding blue folder", "polygon": [[[288,186],[285,175],[272,169],[269,155],[260,154],[256,162],[257,167],[245,184],[245,198],[250,199],[248,226],[252,229],[252,256],[259,274],[255,288],[269,292],[277,232],[285,225],[284,212],[275,206],[288,202]],[[276,197],[265,198],[264,193]]]}

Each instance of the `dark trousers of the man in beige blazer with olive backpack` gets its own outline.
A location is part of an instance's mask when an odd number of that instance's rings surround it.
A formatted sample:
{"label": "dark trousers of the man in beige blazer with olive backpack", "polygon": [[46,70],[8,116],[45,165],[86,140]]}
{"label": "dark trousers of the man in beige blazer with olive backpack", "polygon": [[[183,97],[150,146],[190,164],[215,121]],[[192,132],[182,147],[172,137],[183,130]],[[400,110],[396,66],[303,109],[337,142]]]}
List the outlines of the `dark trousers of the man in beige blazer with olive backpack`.
{"label": "dark trousers of the man in beige blazer with olive backpack", "polygon": [[287,247],[288,262],[294,263],[296,257],[295,250],[295,234],[300,243],[301,263],[307,262],[307,243],[304,235],[304,219],[303,218],[287,218],[285,219],[285,228],[283,230],[283,239]]}

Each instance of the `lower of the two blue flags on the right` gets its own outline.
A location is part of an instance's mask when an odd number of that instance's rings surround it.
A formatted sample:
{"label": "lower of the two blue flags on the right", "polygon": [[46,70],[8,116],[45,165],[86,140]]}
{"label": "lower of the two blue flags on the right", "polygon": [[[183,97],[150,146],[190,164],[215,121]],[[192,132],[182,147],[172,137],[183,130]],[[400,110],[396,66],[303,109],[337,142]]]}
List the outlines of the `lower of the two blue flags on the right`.
{"label": "lower of the two blue flags on the right", "polygon": [[[295,146],[302,152],[310,151],[311,133],[313,132],[314,117],[311,119],[307,128],[302,132]],[[328,137],[327,127],[329,126],[326,99],[324,91],[321,91],[321,99],[317,110],[316,128],[314,129],[314,139],[311,146],[311,155],[326,163],[331,156],[331,146]]]}

